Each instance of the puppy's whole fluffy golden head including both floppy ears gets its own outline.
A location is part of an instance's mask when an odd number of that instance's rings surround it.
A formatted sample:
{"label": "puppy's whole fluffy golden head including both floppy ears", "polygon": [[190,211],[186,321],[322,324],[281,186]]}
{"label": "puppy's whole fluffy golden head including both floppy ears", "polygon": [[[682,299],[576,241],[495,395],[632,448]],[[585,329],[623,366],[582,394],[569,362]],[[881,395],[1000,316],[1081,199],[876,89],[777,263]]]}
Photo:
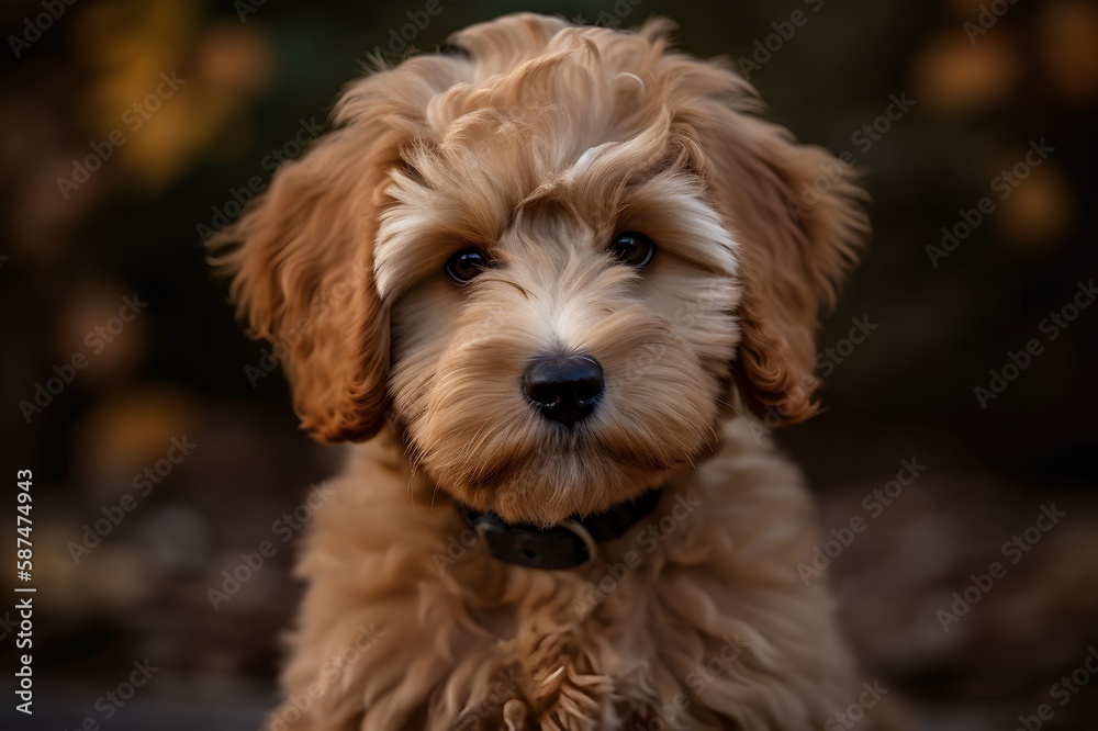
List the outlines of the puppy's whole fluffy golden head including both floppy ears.
{"label": "puppy's whole fluffy golden head including both floppy ears", "polygon": [[859,190],[666,31],[512,15],[347,90],[220,240],[304,427],[388,417],[456,498],[547,525],[664,481],[738,406],[814,412]]}

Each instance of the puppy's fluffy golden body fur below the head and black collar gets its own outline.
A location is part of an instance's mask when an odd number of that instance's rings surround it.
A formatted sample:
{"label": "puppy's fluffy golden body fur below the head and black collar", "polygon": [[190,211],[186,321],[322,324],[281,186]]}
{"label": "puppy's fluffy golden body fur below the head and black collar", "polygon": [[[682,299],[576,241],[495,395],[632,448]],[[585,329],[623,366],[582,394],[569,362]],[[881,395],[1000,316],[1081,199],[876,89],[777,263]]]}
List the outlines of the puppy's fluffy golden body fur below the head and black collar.
{"label": "puppy's fluffy golden body fur below the head and black collar", "polygon": [[807,729],[851,701],[830,599],[796,570],[810,501],[744,425],[567,571],[492,559],[410,472],[382,435],[329,485],[272,729]]}

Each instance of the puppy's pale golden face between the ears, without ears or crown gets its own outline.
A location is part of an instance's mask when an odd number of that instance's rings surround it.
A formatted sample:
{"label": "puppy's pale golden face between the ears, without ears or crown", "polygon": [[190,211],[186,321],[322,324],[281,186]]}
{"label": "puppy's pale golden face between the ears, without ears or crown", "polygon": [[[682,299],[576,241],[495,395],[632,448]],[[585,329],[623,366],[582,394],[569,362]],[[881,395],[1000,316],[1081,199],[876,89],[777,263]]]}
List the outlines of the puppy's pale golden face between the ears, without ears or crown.
{"label": "puppy's pale golden face between the ears, without ears or crown", "polygon": [[698,182],[665,140],[610,142],[583,128],[579,97],[561,101],[564,119],[517,109],[424,154],[413,165],[430,172],[397,176],[376,251],[393,412],[417,464],[534,522],[604,509],[697,458],[738,339],[735,247]]}

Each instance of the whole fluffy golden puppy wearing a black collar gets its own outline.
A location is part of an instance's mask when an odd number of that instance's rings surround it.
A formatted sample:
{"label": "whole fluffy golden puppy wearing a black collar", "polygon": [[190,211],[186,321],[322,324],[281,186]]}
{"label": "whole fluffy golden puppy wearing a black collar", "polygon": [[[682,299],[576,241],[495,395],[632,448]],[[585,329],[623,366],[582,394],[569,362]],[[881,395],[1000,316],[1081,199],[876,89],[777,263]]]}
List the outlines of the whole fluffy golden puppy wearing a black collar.
{"label": "whole fluffy golden puppy wearing a black collar", "polygon": [[215,241],[303,428],[358,442],[269,729],[788,731],[864,697],[764,434],[817,411],[864,193],[671,30],[469,27],[352,82]]}

